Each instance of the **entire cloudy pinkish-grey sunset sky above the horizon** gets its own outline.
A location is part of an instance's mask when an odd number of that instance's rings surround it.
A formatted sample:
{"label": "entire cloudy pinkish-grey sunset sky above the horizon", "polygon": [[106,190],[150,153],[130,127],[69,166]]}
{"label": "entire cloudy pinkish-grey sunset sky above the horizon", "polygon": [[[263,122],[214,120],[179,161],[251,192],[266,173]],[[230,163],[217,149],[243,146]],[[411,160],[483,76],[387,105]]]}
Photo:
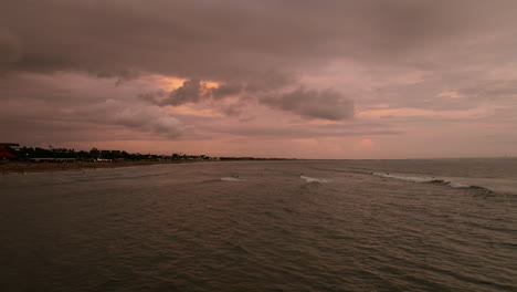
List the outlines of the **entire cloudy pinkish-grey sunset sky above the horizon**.
{"label": "entire cloudy pinkish-grey sunset sky above the horizon", "polygon": [[517,156],[514,0],[0,0],[0,142]]}

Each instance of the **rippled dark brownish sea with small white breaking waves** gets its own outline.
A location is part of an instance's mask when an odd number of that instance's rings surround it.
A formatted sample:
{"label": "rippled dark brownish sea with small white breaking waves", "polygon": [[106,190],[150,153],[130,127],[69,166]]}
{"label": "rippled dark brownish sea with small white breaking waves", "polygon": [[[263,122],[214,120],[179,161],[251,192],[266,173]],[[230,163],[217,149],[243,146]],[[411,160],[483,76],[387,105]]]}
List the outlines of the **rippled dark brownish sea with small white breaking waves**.
{"label": "rippled dark brownish sea with small white breaking waves", "polygon": [[517,291],[517,160],[3,176],[0,234],[0,291]]}

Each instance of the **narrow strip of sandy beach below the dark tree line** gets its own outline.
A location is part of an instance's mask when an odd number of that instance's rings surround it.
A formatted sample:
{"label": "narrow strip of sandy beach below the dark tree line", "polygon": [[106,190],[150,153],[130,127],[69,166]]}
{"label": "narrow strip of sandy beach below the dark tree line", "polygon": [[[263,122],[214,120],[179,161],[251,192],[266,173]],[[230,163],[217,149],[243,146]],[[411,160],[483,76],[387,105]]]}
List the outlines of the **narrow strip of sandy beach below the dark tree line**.
{"label": "narrow strip of sandy beach below the dark tree line", "polygon": [[149,166],[158,164],[191,164],[197,160],[169,160],[169,161],[74,161],[74,163],[24,163],[8,161],[0,163],[0,175],[28,174],[28,173],[55,173],[55,171],[78,171],[96,168],[118,168],[130,166]]}

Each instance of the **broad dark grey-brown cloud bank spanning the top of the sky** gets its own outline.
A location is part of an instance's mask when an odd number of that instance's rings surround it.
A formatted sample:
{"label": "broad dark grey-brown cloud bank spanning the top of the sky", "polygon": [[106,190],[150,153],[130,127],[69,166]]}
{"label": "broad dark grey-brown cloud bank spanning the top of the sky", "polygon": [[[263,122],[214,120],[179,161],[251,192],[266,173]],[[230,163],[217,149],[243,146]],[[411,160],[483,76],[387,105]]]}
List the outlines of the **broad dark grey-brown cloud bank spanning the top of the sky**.
{"label": "broad dark grey-brown cloud bank spanning the top of the sky", "polygon": [[[465,9],[465,8],[468,9]],[[262,88],[333,59],[414,62],[507,24],[514,1],[3,1],[4,70],[159,73]],[[497,12],[497,19],[485,14]],[[221,87],[220,91],[229,88]],[[232,88],[236,92],[236,88]],[[224,93],[222,93],[224,94]],[[191,95],[193,96],[193,95]],[[215,97],[219,94],[214,94]],[[181,102],[183,97],[173,97]]]}

